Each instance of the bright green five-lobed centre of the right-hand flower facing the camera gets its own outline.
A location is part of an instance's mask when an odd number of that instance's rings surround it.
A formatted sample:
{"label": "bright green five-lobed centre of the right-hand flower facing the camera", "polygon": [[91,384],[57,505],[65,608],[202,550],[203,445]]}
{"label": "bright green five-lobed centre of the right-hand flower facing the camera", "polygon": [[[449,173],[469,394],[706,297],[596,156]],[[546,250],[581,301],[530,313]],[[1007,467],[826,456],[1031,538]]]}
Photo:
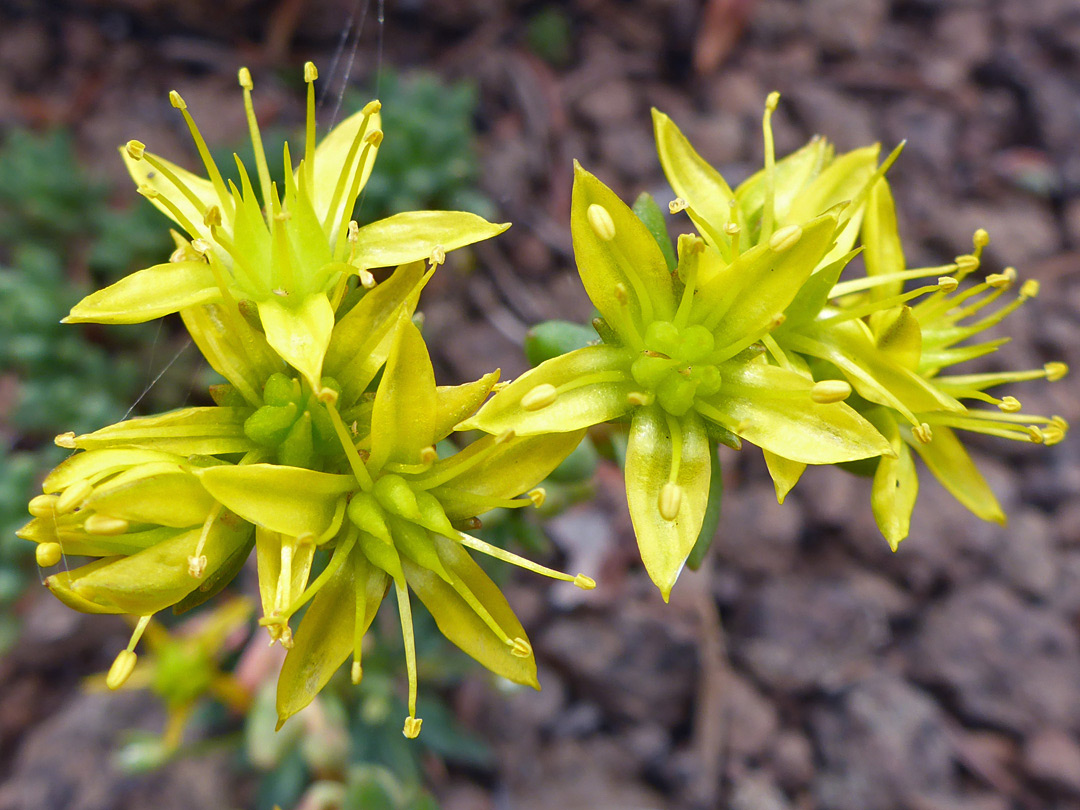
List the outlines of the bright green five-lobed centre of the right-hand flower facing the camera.
{"label": "bright green five-lobed centre of the right-hand flower facing the camera", "polygon": [[645,350],[635,357],[631,374],[639,386],[656,394],[672,416],[683,416],[698,396],[720,390],[720,373],[707,363],[715,343],[704,326],[678,328],[670,321],[653,321],[645,332]]}

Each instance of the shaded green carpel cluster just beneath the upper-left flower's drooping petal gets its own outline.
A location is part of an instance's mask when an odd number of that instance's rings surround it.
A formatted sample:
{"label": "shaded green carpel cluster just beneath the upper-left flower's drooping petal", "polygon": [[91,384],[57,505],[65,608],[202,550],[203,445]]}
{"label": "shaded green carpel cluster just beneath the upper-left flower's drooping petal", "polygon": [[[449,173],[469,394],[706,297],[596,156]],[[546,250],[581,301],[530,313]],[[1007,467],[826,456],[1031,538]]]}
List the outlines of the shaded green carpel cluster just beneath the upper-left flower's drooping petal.
{"label": "shaded green carpel cluster just beneath the upper-left flower's drooping petal", "polygon": [[[330,377],[323,388],[340,391]],[[316,469],[339,456],[341,445],[326,407],[295,377],[273,374],[262,388],[262,406],[244,421],[244,434],[274,451],[278,463]]]}

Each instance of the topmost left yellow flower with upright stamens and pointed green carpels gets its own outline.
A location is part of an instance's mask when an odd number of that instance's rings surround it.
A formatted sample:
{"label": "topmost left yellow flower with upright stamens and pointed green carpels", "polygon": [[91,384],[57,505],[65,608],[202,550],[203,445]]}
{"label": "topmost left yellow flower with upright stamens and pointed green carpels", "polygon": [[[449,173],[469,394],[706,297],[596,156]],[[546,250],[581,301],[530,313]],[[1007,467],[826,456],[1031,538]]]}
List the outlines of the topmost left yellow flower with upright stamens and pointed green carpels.
{"label": "topmost left yellow flower with upright stamens and pointed green carpels", "polygon": [[121,148],[141,194],[166,214],[189,240],[177,237],[172,260],[140,270],[87,296],[68,322],[138,323],[199,305],[219,303],[234,330],[241,301],[253,301],[266,341],[318,389],[346,282],[359,275],[374,284],[373,268],[419,259],[442,264],[446,253],[502,232],[463,212],[409,212],[363,227],[351,220],[355,201],[382,140],[379,103],[347,118],[315,146],[314,65],[305,66],[308,110],[303,154],[295,167],[285,145],[284,188],[270,181],[267,158],[252,107],[252,78],[240,71],[244,106],[255,147],[261,205],[238,159],[241,187],[226,184],[187,104],[180,110],[207,178],[146,150],[137,141]]}

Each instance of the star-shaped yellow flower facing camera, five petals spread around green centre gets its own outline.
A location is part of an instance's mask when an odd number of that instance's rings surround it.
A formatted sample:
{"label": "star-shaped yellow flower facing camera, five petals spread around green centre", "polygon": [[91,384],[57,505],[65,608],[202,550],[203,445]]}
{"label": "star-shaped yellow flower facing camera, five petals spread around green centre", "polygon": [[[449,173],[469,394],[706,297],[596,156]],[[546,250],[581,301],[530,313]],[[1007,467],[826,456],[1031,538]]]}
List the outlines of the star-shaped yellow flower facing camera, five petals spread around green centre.
{"label": "star-shaped yellow flower facing camera, five petals spread around green centre", "polygon": [[604,342],[542,363],[460,427],[541,435],[629,418],[630,513],[665,599],[702,526],[711,442],[741,437],[813,464],[891,453],[854,410],[762,353],[833,249],[835,213],[784,226],[730,259],[684,237],[673,274],[646,226],[578,166],[570,222]]}

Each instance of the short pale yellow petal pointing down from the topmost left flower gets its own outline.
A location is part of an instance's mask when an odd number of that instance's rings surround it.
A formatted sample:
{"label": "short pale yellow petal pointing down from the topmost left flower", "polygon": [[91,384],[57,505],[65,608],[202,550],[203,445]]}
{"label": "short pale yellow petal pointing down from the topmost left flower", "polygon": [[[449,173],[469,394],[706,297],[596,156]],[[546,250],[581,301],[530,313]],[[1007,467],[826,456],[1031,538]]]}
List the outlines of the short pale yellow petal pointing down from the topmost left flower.
{"label": "short pale yellow petal pointing down from the topmost left flower", "polygon": [[334,308],[325,295],[309,295],[298,307],[274,298],[258,302],[267,342],[315,391],[322,388],[323,357],[334,329]]}

